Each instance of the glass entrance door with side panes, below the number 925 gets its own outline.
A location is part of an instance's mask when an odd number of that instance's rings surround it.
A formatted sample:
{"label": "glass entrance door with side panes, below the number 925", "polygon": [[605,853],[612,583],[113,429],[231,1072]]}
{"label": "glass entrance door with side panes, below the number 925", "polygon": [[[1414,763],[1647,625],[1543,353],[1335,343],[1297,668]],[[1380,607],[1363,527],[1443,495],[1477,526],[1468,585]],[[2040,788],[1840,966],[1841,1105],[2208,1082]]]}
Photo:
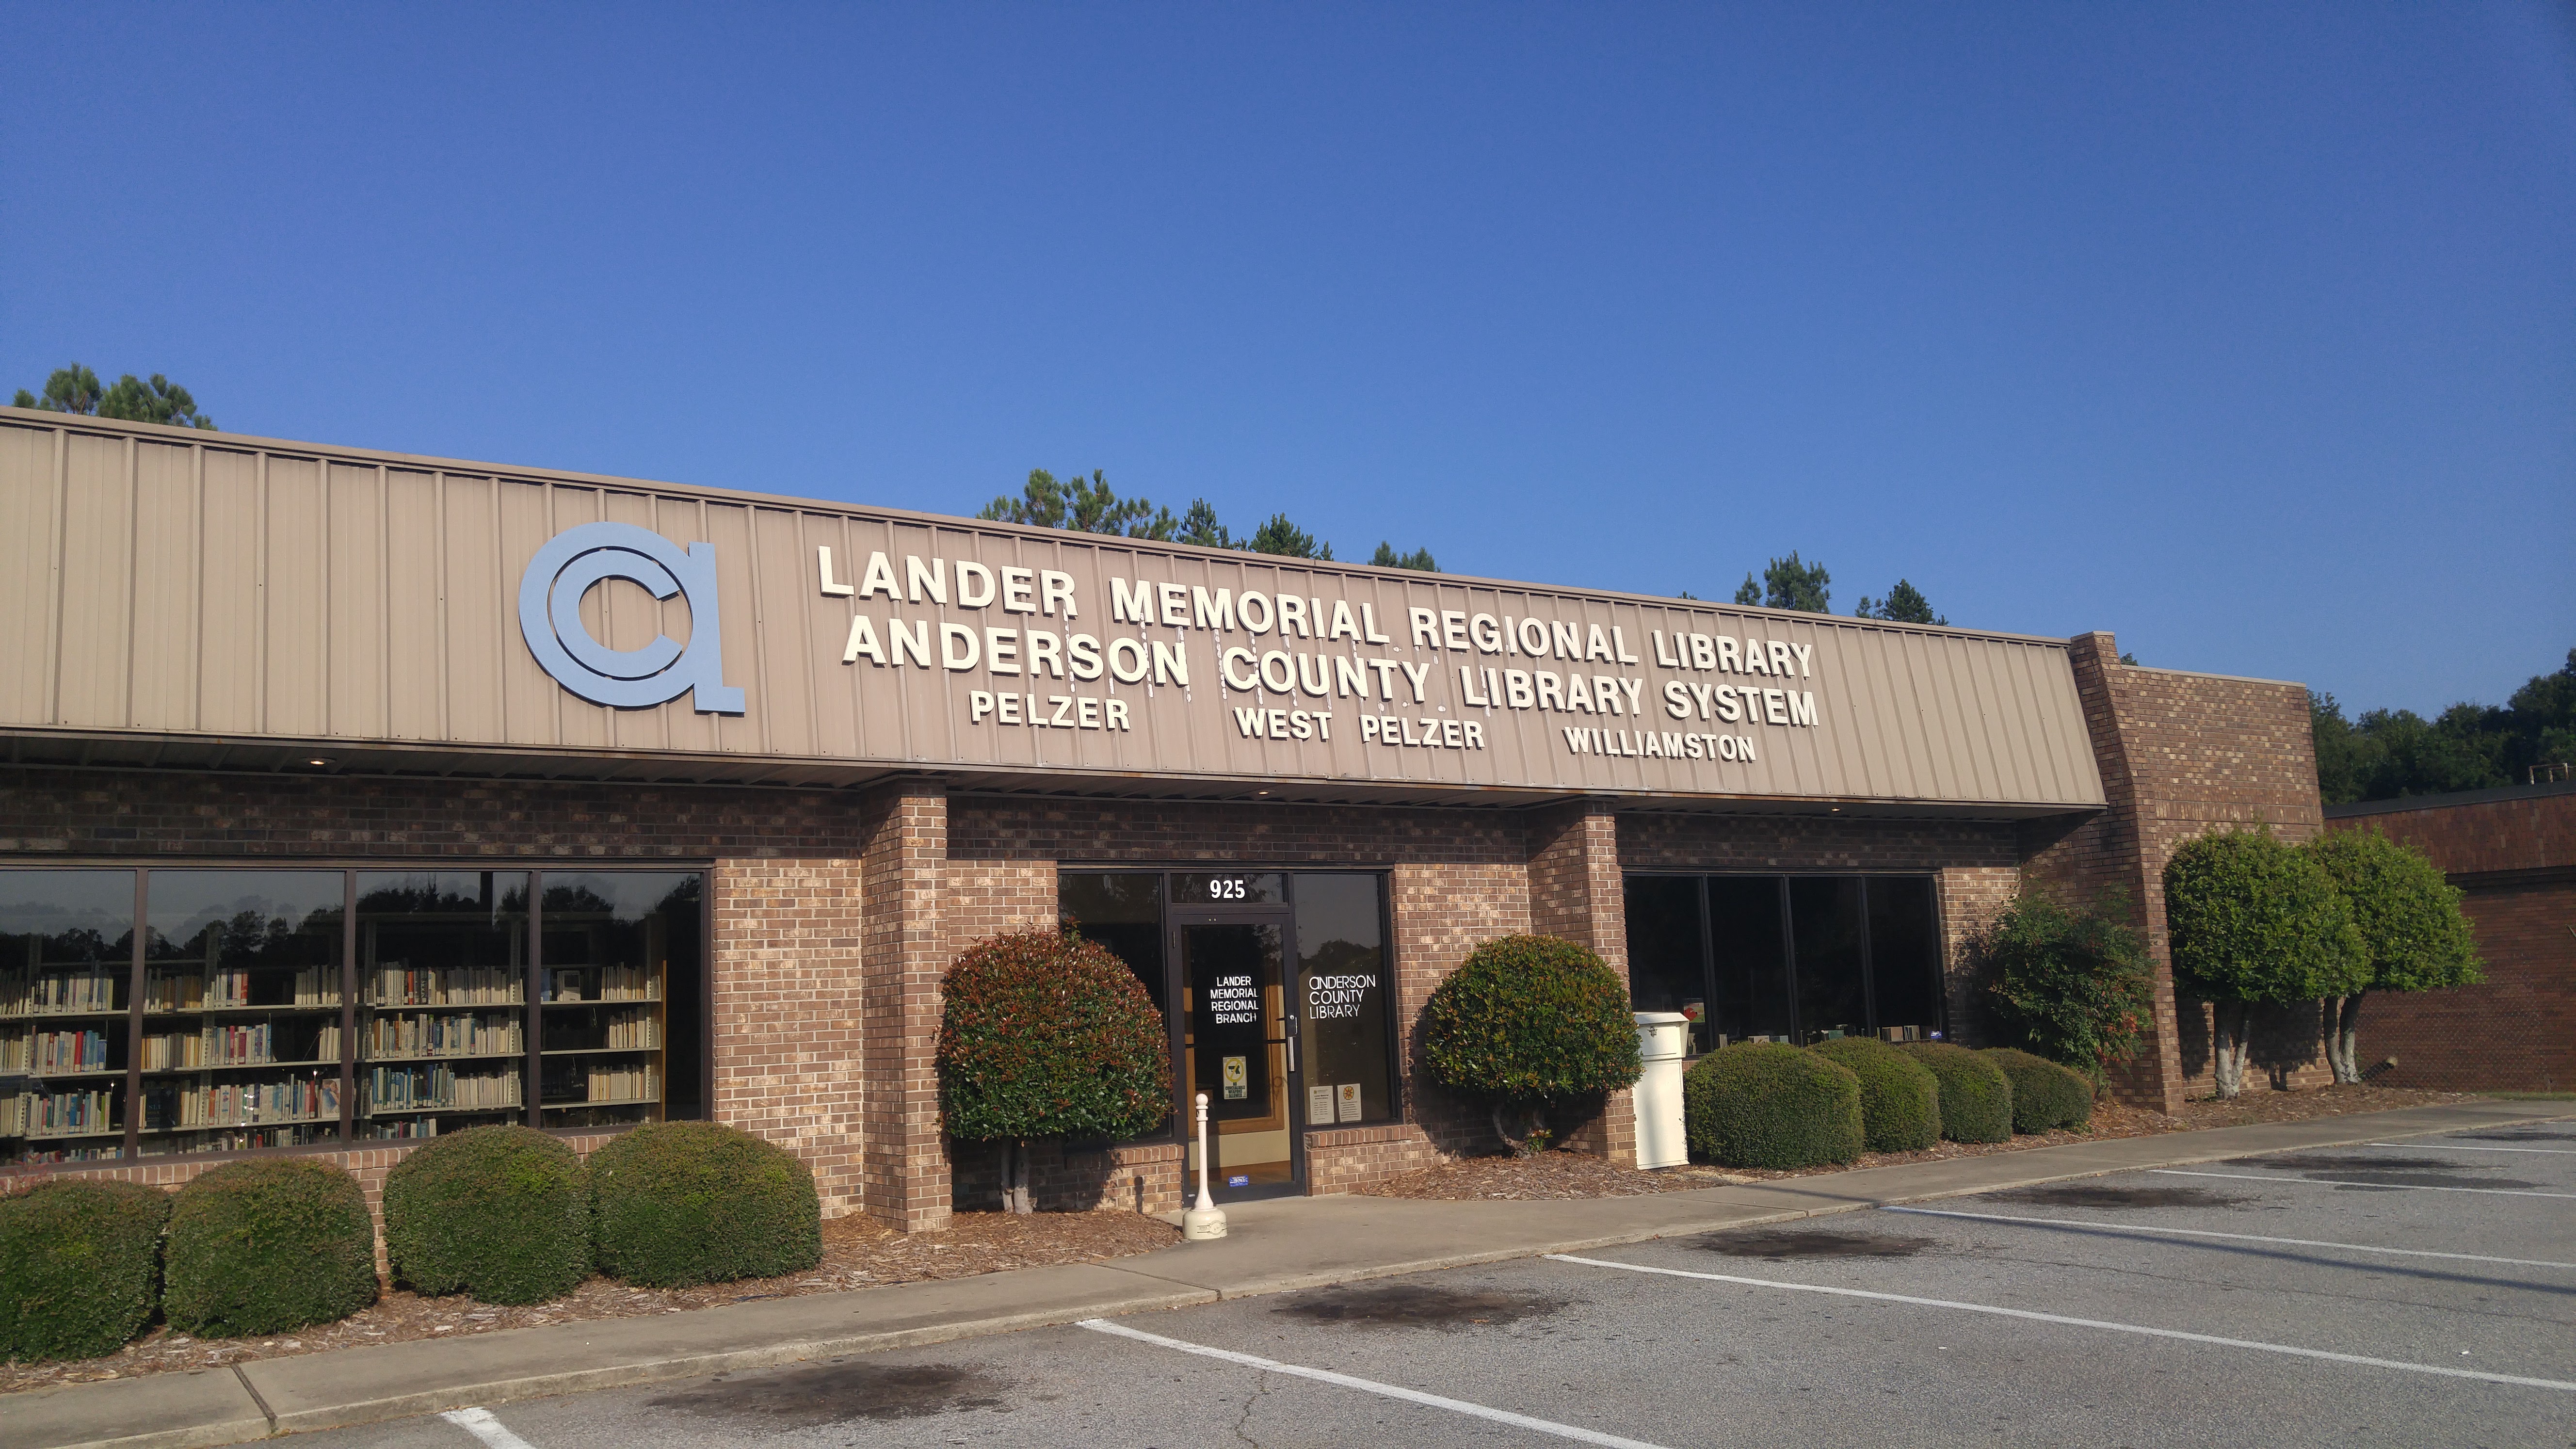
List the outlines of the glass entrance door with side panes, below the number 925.
{"label": "glass entrance door with side panes, below the number 925", "polygon": [[1172,1024],[1172,1132],[1206,1091],[1231,1186],[1293,1181],[1301,1129],[1396,1116],[1383,877],[1059,871],[1056,900]]}

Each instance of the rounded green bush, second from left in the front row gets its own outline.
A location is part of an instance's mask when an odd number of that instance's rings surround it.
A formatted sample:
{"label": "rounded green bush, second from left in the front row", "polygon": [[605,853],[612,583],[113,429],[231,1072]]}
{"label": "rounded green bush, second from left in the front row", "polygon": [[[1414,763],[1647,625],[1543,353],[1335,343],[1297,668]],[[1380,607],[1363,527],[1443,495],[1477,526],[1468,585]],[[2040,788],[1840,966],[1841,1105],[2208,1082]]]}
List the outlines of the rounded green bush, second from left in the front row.
{"label": "rounded green bush, second from left in the front row", "polygon": [[376,1302],[358,1178],[317,1158],[224,1163],[170,1204],[170,1328],[206,1338],[337,1323]]}

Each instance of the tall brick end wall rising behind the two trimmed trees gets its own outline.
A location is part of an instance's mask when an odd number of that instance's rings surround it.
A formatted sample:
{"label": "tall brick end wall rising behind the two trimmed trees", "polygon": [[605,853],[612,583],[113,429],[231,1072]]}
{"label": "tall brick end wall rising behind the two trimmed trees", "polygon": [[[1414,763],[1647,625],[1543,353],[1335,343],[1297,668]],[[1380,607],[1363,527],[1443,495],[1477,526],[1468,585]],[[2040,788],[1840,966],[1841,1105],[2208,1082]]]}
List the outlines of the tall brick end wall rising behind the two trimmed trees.
{"label": "tall brick end wall rising behind the two trimmed trees", "polygon": [[[2123,665],[2110,634],[2076,634],[2069,655],[2110,807],[2074,825],[2025,825],[2022,851],[2032,877],[2071,900],[2128,895],[2156,964],[2156,1011],[2146,1052],[2112,1075],[2112,1093],[2174,1111],[2213,1085],[2213,1060],[2208,1006],[2174,995],[2164,864],[2208,830],[2269,825],[2308,841],[2324,828],[2308,691]],[[2257,1013],[2251,1060],[2275,1085],[2331,1080],[2313,1008]]]}

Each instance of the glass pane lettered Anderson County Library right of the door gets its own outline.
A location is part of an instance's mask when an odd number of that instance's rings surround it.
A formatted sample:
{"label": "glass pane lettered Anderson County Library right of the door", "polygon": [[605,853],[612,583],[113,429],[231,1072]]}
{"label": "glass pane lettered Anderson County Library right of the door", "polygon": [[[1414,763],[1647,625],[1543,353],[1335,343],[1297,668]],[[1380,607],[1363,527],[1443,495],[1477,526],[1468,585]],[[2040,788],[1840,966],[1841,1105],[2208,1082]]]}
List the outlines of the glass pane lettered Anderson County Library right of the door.
{"label": "glass pane lettered Anderson County Library right of the door", "polygon": [[1378,877],[1296,877],[1303,1124],[1378,1122],[1388,1091],[1386,918]]}

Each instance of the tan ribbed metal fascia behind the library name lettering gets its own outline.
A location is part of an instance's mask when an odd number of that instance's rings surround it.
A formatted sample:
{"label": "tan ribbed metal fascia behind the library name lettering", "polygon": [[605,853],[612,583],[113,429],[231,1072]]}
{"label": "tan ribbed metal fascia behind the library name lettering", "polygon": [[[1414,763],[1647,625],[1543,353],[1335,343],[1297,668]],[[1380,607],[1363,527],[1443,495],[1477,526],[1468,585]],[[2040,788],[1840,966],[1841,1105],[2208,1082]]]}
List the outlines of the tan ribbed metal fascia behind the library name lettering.
{"label": "tan ribbed metal fascia behind the library name lettering", "polygon": [[[276,449],[276,451],[268,451]],[[57,498],[62,503],[57,503]],[[677,547],[716,549],[724,683],[742,688],[739,717],[701,714],[693,699],[654,709],[605,709],[546,678],[518,629],[518,588],[533,552],[574,523],[613,518]],[[1512,792],[1651,792],[1700,797],[1832,797],[2081,807],[2102,797],[2084,735],[2066,647],[2050,639],[1878,627],[1832,616],[1783,616],[1695,601],[1548,590],[1502,580],[1309,567],[1293,559],[1170,549],[1131,539],[1054,534],[974,521],[938,521],[863,508],[752,500],[711,490],[492,472],[471,464],[392,459],[348,449],[283,449],[245,438],[188,438],[113,423],[0,420],[0,590],[44,624],[52,668],[23,650],[0,663],[0,722],[80,730],[276,735],[296,740],[446,743],[466,761],[487,748],[564,753],[685,753],[778,758],[814,771],[853,766],[989,768],[1203,776],[1211,781],[1373,781]],[[945,559],[951,601],[835,598],[819,593],[817,549],[835,552],[842,583],[866,578],[884,552],[896,588],[904,559]],[[999,575],[1028,567],[1077,580],[1074,616],[966,608],[958,562]],[[1306,632],[1273,624],[1231,629],[1115,624],[1108,580],[1195,590],[1288,593],[1309,601]],[[1386,642],[1332,639],[1334,601],[1373,611]],[[1517,637],[1494,655],[1448,642],[1414,645],[1409,608],[1538,619],[1540,657]],[[582,601],[590,629],[616,650],[654,634],[693,639],[685,601],[652,601],[608,580]],[[989,629],[1012,629],[1023,673],[840,663],[850,616],[866,614],[891,652],[889,619],[966,627],[976,652]],[[1574,621],[1636,663],[1556,657],[1553,624]],[[1188,683],[1043,678],[1025,668],[1033,629],[1090,634],[1103,652],[1118,637],[1180,647]],[[1808,647],[1811,676],[1700,673],[1662,665],[1656,634],[1726,634],[1752,647]],[[1327,668],[1324,696],[1291,686],[1231,688],[1221,650],[1303,660],[1391,660],[1425,673],[1427,699],[1396,673],[1399,699],[1360,696]],[[1677,650],[1685,645],[1674,645]],[[1066,652],[1069,657],[1069,652]],[[1685,660],[1687,663],[1687,660]],[[1273,663],[1275,668],[1275,663]],[[1468,686],[1461,686],[1466,670]],[[1497,694],[1468,704],[1468,688]],[[1618,676],[1615,709],[1510,709],[1502,670],[1558,678]],[[1664,714],[1667,681],[1747,694],[1749,719]],[[1759,719],[1759,691],[1811,691],[1814,727]],[[1038,714],[1048,696],[1123,701],[1128,730],[1054,730],[974,719],[974,691],[1015,696]],[[1236,709],[1329,714],[1332,735],[1247,737]],[[1394,748],[1363,740],[1363,717],[1401,730],[1473,719],[1486,748]],[[1566,730],[1597,730],[1643,753],[1577,753]],[[1741,735],[1754,761],[1667,758],[1664,735]],[[526,768],[526,766],[520,766]],[[652,771],[654,766],[639,766]],[[672,773],[688,773],[675,763]]]}

